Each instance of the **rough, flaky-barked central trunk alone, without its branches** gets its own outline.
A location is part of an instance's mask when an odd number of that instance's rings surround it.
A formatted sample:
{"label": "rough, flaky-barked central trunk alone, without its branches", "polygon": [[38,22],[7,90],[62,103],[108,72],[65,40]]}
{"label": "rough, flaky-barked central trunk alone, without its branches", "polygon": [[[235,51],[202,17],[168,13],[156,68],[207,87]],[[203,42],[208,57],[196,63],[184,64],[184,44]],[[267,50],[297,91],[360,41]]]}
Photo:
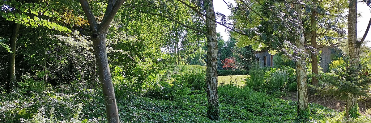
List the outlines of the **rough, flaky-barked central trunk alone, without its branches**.
{"label": "rough, flaky-barked central trunk alone, without its branches", "polygon": [[219,120],[218,100],[218,75],[217,56],[218,45],[216,40],[216,23],[213,0],[204,0],[206,7],[206,40],[207,40],[207,62],[206,62],[206,92],[207,92],[207,117],[211,120]]}

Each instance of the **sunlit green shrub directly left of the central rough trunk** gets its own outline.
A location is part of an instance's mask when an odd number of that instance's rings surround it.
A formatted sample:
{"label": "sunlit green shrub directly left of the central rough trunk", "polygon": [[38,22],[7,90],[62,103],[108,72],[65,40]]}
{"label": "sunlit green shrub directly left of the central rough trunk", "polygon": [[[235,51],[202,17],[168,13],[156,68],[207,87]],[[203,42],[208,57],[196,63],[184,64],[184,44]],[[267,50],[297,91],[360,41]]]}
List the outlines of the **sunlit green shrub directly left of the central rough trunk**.
{"label": "sunlit green shrub directly left of the central rough trunk", "polygon": [[191,90],[206,90],[206,66],[176,65],[162,78],[155,80],[153,88],[144,96],[155,99],[182,100]]}

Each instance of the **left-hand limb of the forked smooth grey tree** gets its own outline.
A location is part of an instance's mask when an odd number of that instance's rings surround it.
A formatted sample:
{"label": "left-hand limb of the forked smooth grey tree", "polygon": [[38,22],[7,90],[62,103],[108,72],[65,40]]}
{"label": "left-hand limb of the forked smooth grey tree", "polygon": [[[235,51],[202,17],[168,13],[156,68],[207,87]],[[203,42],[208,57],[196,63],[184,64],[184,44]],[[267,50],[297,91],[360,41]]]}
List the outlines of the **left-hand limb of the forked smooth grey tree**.
{"label": "left-hand limb of the forked smooth grey tree", "polygon": [[95,16],[89,6],[89,2],[87,0],[80,0],[80,4],[82,9],[84,10],[86,18],[88,19],[90,27],[92,28],[92,30],[97,30],[98,23],[95,20]]}

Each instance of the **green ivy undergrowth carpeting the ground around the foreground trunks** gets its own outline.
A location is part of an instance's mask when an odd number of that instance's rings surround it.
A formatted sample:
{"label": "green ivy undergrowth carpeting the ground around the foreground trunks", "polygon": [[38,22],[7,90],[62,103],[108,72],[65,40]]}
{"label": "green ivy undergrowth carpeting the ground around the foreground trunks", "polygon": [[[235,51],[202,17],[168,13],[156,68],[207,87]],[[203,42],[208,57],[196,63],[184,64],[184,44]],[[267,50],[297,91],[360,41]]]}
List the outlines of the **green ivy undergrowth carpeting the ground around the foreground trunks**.
{"label": "green ivy undergrowth carpeting the ground around the foreground trunks", "polygon": [[[58,91],[58,90],[55,90]],[[71,91],[73,92],[73,91]],[[0,97],[0,122],[102,123],[105,107],[100,92],[88,89],[75,93],[43,91],[14,92]],[[183,100],[152,99],[142,96],[118,100],[123,123],[291,123],[296,118],[296,102],[273,98],[236,84],[218,88],[220,120],[206,117],[206,92],[192,91]],[[318,104],[309,104],[311,122],[341,123],[342,113]],[[359,123],[370,119],[360,117]]]}

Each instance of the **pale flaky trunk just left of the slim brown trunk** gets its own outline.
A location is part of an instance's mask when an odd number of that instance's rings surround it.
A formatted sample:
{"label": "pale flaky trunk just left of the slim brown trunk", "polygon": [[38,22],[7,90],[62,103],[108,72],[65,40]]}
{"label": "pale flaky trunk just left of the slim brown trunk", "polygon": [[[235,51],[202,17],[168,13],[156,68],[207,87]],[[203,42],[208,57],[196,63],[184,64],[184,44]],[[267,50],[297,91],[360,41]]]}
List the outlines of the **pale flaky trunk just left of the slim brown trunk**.
{"label": "pale flaky trunk just left of the slim brown trunk", "polygon": [[299,59],[296,60],[296,76],[298,88],[298,119],[309,119],[308,95],[306,85],[306,69],[305,69],[305,52],[304,52],[304,34],[302,23],[301,5],[294,4],[294,9],[298,13],[298,36],[296,37],[295,45],[302,51],[299,52]]}

